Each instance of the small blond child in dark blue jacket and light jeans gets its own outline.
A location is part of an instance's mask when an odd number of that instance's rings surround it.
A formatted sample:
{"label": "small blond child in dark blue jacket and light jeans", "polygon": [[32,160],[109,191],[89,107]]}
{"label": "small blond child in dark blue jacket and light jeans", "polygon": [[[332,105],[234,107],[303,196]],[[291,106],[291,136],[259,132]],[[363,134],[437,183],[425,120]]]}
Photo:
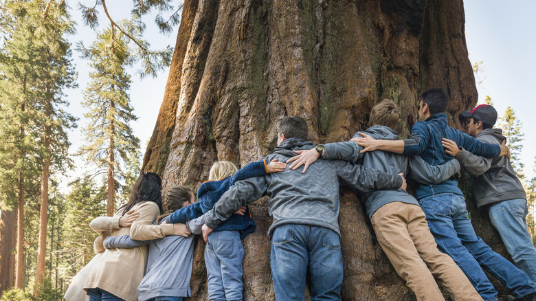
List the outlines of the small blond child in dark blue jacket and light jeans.
{"label": "small blond child in dark blue jacket and light jeans", "polygon": [[[215,162],[210,168],[208,181],[197,190],[199,201],[173,212],[168,223],[185,223],[210,211],[236,181],[284,170],[287,164],[277,160],[267,164],[265,159],[261,159],[241,170],[237,170],[230,161]],[[254,231],[255,222],[245,207],[209,234],[209,243],[205,247],[209,300],[242,300],[244,247],[241,240]]]}

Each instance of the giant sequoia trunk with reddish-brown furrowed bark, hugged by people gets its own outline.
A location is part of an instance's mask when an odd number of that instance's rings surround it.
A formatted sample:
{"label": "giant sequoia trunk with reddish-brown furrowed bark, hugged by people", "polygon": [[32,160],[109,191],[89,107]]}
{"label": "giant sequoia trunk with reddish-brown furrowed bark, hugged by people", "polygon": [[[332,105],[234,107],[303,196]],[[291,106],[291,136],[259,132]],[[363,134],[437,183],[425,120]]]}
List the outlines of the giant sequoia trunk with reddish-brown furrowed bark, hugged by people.
{"label": "giant sequoia trunk with reddish-brown furrowed bark, hugged by people", "polygon": [[[477,100],[464,23],[461,0],[185,1],[144,171],[163,175],[164,191],[198,188],[216,160],[244,166],[271,153],[285,115],[302,116],[314,142],[337,142],[366,129],[383,98],[401,107],[404,136],[430,87],[449,91],[454,116]],[[414,300],[355,194],[343,189],[340,200],[344,300]],[[245,300],[273,300],[267,199],[250,209],[257,230],[243,241]],[[489,241],[487,218],[471,216]],[[206,299],[205,275],[199,239],[192,300]]]}

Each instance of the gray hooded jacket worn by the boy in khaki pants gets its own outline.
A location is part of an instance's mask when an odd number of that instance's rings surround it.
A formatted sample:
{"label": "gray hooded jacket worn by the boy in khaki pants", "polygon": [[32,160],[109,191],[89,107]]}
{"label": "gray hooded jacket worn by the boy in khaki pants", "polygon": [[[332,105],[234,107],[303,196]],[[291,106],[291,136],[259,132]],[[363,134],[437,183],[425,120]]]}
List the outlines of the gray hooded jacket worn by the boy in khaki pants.
{"label": "gray hooded jacket worn by the boy in khaki pants", "polygon": [[[399,135],[388,126],[372,126],[365,131],[374,139],[397,140]],[[359,132],[354,137],[359,136]],[[375,150],[361,154],[363,149],[355,142],[337,142],[323,145],[324,159],[341,159],[354,163],[360,162],[366,168],[375,168],[390,174],[403,172],[405,176],[423,184],[435,184],[445,181],[460,170],[460,163],[452,159],[445,164],[431,166],[421,157],[406,156],[383,150]],[[387,203],[399,201],[402,203],[418,205],[418,201],[401,189],[392,190],[364,190],[359,192],[361,201],[364,201],[368,217]]]}

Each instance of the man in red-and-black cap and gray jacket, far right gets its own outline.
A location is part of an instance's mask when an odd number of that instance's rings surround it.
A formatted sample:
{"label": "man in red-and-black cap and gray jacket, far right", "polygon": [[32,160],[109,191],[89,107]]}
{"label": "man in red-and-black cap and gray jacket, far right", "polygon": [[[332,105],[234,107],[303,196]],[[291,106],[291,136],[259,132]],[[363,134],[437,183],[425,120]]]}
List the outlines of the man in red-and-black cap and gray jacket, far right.
{"label": "man in red-and-black cap and gray jacket, far right", "polygon": [[[460,122],[466,124],[467,134],[482,142],[499,145],[506,138],[501,129],[493,129],[496,121],[497,111],[487,104],[460,115]],[[510,159],[506,156],[493,159],[479,157],[458,148],[451,140],[444,140],[443,146],[471,175],[476,205],[488,210],[491,223],[498,230],[513,262],[536,287],[536,249],[526,224],[526,194]]]}

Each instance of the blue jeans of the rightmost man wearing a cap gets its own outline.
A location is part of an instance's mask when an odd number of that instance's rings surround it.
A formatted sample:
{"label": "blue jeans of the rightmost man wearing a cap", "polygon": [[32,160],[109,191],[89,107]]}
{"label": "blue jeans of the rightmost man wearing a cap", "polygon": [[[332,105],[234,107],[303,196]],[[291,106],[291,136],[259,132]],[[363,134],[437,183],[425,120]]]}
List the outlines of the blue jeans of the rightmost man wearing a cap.
{"label": "blue jeans of the rightmost man wearing a cap", "polygon": [[527,274],[531,285],[536,287],[536,249],[528,234],[527,214],[524,199],[502,201],[489,208],[489,219],[499,232],[514,264]]}

